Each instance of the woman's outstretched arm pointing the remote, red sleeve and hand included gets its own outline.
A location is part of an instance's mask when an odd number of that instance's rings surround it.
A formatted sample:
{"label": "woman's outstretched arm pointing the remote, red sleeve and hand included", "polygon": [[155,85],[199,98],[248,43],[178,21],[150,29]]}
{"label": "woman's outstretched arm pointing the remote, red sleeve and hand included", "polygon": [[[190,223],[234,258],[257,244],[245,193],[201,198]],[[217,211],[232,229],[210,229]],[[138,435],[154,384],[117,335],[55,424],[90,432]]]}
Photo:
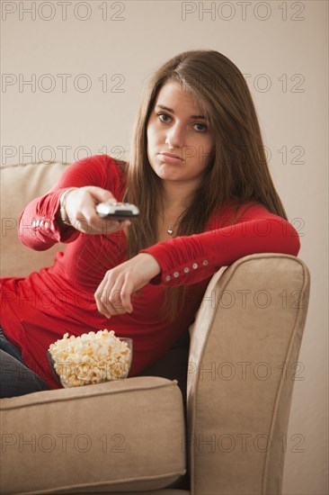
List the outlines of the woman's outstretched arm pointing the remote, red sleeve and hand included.
{"label": "woman's outstretched arm pointing the remote, red sleeve and hand included", "polygon": [[[122,176],[114,160],[106,155],[84,158],[71,166],[50,191],[32,200],[22,211],[19,237],[22,244],[45,250],[56,242],[71,242],[80,232],[99,234],[123,227],[118,222],[101,220],[94,206],[97,202],[113,200],[120,192]],[[67,217],[72,225],[61,220],[60,198],[67,193]]]}

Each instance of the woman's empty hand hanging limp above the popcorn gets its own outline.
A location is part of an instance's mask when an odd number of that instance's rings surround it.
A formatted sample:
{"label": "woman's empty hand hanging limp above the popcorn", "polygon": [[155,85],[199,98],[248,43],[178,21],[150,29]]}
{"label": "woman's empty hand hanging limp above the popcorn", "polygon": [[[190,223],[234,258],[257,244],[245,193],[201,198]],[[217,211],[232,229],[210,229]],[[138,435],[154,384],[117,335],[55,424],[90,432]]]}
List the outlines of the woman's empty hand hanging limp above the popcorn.
{"label": "woman's empty hand hanging limp above the popcorn", "polygon": [[97,309],[107,318],[120,313],[131,313],[130,296],[161,272],[156,258],[140,253],[112,268],[102,279],[94,293]]}

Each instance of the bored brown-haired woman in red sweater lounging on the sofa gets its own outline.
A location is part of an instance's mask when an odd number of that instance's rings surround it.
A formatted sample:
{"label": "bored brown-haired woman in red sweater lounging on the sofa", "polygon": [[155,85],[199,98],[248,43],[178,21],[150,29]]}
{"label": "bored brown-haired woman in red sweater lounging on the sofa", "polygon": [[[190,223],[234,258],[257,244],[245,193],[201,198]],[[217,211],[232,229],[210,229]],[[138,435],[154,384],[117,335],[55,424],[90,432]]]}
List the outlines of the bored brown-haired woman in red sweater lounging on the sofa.
{"label": "bored brown-haired woman in red sweater lounging on the sofa", "polygon": [[[47,349],[66,332],[133,338],[130,376],[146,373],[188,335],[220,266],[253,253],[298,255],[251,94],[224,55],[191,50],[160,67],[131,148],[129,163],[79,160],[23,211],[26,246],[67,248],[54,266],[2,280],[3,396],[58,388]],[[106,201],[137,204],[138,220],[100,219],[95,206]]]}

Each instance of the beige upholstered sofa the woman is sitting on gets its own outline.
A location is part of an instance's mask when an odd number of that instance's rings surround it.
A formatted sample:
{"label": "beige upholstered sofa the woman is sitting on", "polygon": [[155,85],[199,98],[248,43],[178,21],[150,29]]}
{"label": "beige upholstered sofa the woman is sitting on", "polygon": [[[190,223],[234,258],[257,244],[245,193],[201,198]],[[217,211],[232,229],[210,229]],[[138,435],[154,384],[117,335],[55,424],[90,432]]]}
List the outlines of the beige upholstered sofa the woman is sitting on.
{"label": "beige upholstered sofa the woman is sitting on", "polygon": [[[63,167],[3,168],[1,276],[51,263],[16,227]],[[280,494],[309,284],[303,261],[271,253],[213,276],[190,329],[187,424],[177,383],[154,376],[1,400],[0,492]]]}

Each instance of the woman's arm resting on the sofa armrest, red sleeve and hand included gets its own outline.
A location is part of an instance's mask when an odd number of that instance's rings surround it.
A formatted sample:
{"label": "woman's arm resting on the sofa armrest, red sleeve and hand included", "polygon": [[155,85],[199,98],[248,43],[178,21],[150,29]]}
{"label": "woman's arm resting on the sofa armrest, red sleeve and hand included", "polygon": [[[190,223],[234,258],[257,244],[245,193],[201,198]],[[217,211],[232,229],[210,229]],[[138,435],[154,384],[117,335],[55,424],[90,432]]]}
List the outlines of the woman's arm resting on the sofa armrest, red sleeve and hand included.
{"label": "woman's arm resting on the sofa armrest, red sleeve and hand included", "polygon": [[234,225],[158,242],[112,268],[94,294],[97,308],[108,318],[131,312],[131,294],[146,284],[196,284],[240,257],[267,252],[297,256],[299,247],[298,232],[288,221],[253,206]]}

